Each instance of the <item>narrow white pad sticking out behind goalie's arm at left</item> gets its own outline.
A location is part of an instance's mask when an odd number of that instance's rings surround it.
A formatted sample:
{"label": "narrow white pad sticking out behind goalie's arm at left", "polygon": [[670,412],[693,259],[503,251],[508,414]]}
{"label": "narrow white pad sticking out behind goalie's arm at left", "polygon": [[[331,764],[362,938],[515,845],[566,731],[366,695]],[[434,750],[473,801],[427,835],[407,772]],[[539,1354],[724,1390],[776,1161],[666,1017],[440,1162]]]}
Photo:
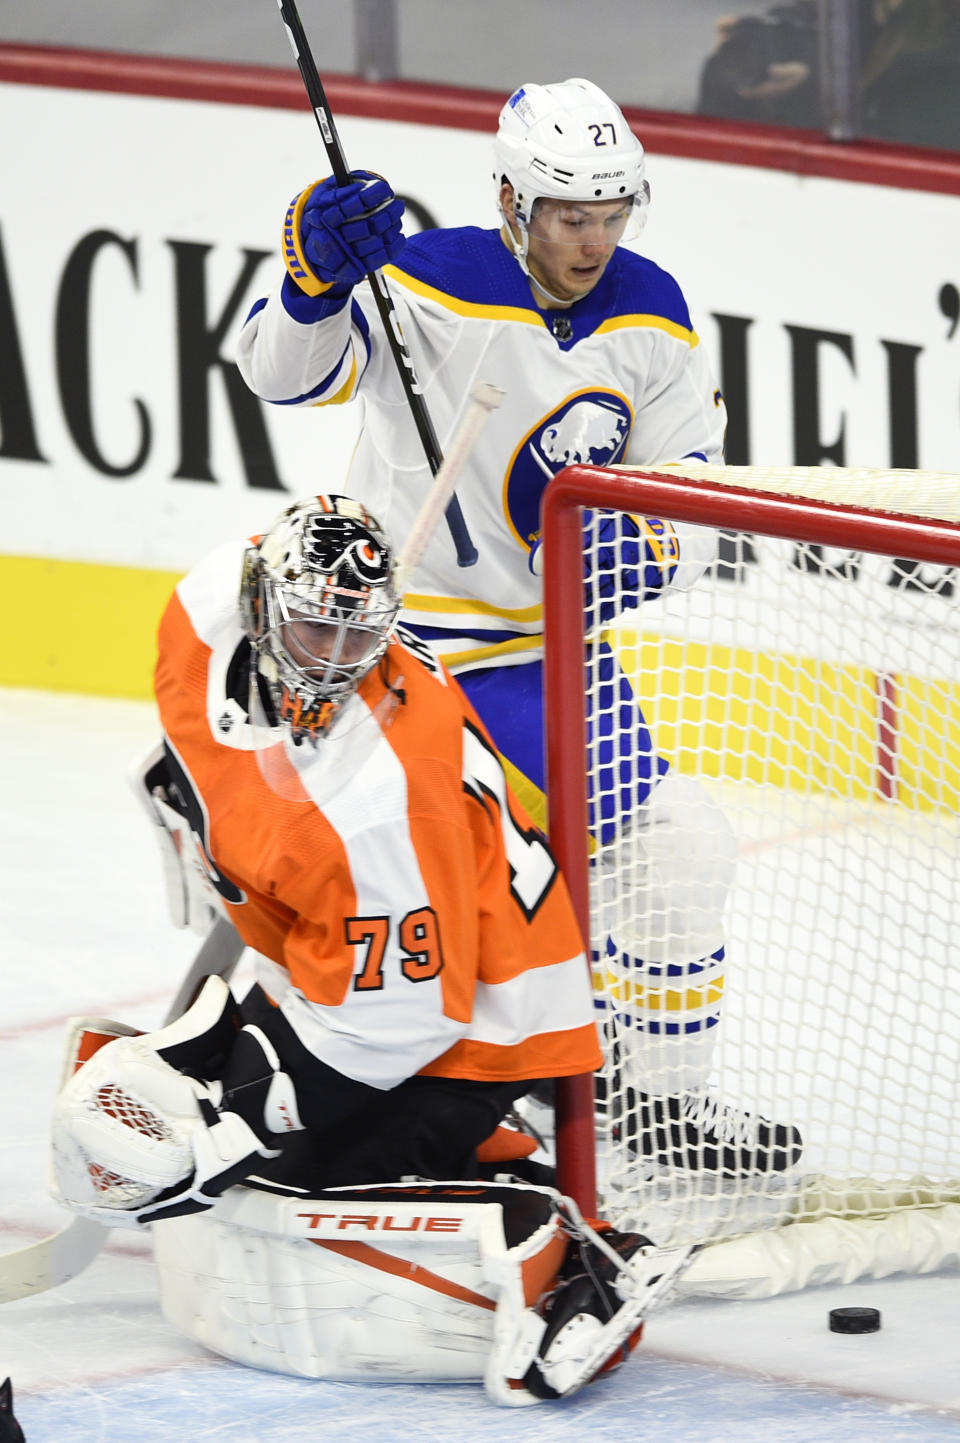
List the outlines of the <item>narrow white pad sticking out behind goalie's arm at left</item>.
{"label": "narrow white pad sticking out behind goalie's arm at left", "polygon": [[163,760],[163,746],[152,747],[130,768],[130,785],[156,828],[173,926],[189,926],[198,937],[206,937],[227,912],[191,823],[170,798]]}

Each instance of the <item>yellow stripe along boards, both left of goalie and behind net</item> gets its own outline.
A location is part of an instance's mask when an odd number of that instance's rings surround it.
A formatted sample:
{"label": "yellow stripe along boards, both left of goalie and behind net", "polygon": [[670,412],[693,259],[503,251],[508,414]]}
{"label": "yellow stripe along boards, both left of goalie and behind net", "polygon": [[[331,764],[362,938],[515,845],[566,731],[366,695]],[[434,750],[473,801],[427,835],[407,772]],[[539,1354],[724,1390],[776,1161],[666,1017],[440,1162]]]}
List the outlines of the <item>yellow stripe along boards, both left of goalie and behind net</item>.
{"label": "yellow stripe along boards, both left of goalie and behind net", "polygon": [[[149,698],[156,628],[180,574],[0,556],[13,616],[0,646],[0,685]],[[629,628],[611,641],[657,750],[678,771],[876,798],[876,677],[869,668]],[[895,684],[896,799],[957,812],[960,684],[905,674]],[[521,789],[540,821],[541,795],[530,782]]]}

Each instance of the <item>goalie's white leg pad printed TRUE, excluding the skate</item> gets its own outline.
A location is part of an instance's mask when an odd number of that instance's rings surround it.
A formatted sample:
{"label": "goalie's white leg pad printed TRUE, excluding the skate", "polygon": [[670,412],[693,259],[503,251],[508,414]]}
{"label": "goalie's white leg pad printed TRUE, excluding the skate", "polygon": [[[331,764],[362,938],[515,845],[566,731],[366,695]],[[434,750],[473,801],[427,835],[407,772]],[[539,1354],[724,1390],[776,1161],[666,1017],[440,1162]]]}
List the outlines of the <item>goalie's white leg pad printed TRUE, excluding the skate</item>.
{"label": "goalie's white leg pad printed TRUE, excluding the skate", "polygon": [[531,1303],[566,1251],[553,1198],[476,1182],[319,1196],[234,1188],[209,1214],[154,1224],[160,1303],[180,1332],[254,1368],[481,1381],[507,1235]]}

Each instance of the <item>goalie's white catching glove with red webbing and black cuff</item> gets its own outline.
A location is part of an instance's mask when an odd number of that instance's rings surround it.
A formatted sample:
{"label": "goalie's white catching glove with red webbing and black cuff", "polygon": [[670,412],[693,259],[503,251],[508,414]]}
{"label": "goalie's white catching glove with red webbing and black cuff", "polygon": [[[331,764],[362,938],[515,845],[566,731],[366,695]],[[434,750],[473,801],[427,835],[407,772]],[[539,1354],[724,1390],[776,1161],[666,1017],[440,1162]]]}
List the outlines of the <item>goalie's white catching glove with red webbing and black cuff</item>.
{"label": "goalie's white catching glove with red webbing and black cuff", "polygon": [[[237,1029],[230,988],[211,977],[178,1022],[98,1048],[53,1107],[53,1196],[136,1227],[212,1208],[279,1156],[283,1133],[302,1126],[293,1082],[258,1027]],[[195,1075],[217,1071],[212,1082]]]}

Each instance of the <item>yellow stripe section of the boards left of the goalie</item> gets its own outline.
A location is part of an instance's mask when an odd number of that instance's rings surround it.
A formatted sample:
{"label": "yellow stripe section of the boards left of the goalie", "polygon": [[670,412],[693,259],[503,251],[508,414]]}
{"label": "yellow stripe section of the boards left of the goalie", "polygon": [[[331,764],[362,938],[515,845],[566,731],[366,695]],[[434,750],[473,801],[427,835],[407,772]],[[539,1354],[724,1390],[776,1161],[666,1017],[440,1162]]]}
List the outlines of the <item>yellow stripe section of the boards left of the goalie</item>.
{"label": "yellow stripe section of the boards left of the goalie", "polygon": [[13,616],[0,646],[0,685],[152,697],[156,629],[180,574],[0,556]]}

